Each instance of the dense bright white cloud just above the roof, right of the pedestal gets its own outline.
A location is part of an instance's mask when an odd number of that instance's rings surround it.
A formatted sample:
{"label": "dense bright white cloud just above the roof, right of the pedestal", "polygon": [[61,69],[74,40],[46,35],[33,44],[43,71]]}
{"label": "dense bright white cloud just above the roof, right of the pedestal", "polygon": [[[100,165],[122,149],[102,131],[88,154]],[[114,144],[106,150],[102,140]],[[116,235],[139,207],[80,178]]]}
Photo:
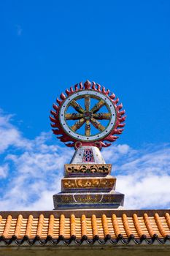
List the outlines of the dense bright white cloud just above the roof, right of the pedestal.
{"label": "dense bright white cloud just above the roof, right of the pedestal", "polygon": [[125,194],[125,208],[169,208],[170,176],[117,176],[117,190]]}

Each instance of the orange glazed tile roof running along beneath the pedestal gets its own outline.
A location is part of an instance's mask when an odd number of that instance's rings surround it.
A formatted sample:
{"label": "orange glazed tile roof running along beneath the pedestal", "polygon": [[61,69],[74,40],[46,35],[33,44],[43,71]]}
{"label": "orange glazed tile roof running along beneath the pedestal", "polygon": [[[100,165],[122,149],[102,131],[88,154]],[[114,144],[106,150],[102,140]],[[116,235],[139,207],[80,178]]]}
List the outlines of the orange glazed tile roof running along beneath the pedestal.
{"label": "orange glazed tile roof running along beneath the pedestal", "polygon": [[2,211],[5,244],[165,244],[170,210]]}

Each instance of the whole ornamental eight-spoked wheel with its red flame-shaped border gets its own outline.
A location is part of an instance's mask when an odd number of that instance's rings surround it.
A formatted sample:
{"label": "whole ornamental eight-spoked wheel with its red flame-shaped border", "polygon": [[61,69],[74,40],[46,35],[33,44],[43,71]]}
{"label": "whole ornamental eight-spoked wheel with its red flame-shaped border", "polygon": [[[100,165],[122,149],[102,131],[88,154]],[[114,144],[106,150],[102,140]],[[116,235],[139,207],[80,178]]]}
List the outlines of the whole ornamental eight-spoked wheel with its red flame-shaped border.
{"label": "whole ornamental eight-spoked wheel with its red flame-shaped border", "polygon": [[53,133],[66,146],[110,146],[123,132],[125,110],[115,94],[88,80],[66,89],[58,105],[53,104],[50,121]]}

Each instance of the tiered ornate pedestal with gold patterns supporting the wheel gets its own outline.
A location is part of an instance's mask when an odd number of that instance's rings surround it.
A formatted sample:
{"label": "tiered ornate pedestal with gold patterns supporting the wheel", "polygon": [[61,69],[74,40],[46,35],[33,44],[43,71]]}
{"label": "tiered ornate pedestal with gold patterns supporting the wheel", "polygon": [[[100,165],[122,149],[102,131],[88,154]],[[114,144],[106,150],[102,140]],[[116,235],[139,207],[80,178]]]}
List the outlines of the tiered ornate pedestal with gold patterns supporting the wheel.
{"label": "tiered ornate pedestal with gold patterns supporting the wheel", "polygon": [[54,208],[118,208],[124,195],[115,191],[116,178],[110,175],[101,152],[94,146],[79,148],[64,166],[61,192],[53,195]]}

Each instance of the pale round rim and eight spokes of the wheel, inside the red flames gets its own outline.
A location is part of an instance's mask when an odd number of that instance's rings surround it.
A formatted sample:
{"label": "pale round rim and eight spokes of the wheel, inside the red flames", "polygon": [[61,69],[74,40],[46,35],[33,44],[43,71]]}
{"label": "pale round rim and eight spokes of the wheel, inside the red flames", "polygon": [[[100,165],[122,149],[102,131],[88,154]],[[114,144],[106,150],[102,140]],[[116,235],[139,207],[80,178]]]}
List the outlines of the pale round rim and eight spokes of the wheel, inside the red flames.
{"label": "pale round rim and eight spokes of the wheel, inside the red flames", "polygon": [[[80,99],[84,101],[84,105],[79,103]],[[91,141],[109,134],[115,124],[116,111],[112,101],[106,95],[98,91],[94,94],[92,91],[85,90],[72,94],[66,99],[61,106],[60,115],[61,126],[67,134],[75,139]],[[103,121],[104,124],[102,124]]]}

